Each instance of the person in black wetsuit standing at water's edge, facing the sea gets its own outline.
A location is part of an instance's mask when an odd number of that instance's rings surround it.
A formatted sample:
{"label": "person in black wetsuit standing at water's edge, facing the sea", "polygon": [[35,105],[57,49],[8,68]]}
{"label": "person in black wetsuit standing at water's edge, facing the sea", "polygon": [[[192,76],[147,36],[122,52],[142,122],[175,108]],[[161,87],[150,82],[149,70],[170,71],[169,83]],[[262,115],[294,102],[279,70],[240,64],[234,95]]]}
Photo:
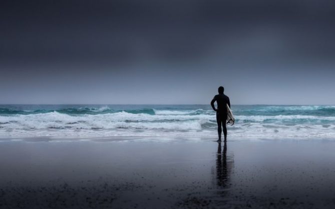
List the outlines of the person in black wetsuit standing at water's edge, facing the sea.
{"label": "person in black wetsuit standing at water's edge, facing the sea", "polygon": [[[223,134],[224,134],[224,141],[227,140],[227,127],[226,127],[226,120],[227,120],[227,104],[230,108],[230,101],[229,97],[226,96],[223,91],[224,87],[220,86],[218,88],[219,94],[216,94],[212,101],[210,102],[210,105],[212,105],[212,108],[214,111],[216,111],[216,122],[217,122],[217,132],[219,134],[219,139],[217,141],[221,141],[221,132],[223,127]],[[214,106],[214,102],[217,103],[217,108]]]}

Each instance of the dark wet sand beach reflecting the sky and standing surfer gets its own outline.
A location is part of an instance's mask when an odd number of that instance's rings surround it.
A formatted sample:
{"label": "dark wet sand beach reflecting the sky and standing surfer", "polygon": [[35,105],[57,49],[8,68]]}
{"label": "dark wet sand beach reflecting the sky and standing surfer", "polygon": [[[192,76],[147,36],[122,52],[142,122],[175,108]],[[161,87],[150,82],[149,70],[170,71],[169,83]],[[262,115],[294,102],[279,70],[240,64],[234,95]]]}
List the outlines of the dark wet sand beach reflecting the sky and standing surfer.
{"label": "dark wet sand beach reflecting the sky and standing surfer", "polygon": [[335,207],[335,140],[212,140],[2,140],[0,208]]}

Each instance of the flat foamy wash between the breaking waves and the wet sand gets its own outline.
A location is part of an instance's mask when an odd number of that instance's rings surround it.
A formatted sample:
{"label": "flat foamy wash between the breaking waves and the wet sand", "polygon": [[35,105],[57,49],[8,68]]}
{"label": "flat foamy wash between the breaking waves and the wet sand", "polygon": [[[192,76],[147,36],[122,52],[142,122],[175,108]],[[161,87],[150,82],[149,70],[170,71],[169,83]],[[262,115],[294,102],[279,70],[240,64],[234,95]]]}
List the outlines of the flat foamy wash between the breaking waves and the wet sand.
{"label": "flat foamy wash between the breaking waves and the wet sand", "polygon": [[[139,136],[139,137],[217,137],[216,128],[201,129],[199,123],[193,121],[189,124],[162,123],[161,126],[153,128],[149,123],[136,124],[117,122],[117,127],[112,129],[0,129],[0,137],[33,137],[33,136],[54,136],[62,137],[115,137],[115,136]],[[185,125],[185,126],[182,126]],[[274,125],[273,125],[274,126]],[[167,128],[187,128],[167,129]],[[140,128],[140,129],[138,129]],[[142,129],[150,128],[150,129]],[[152,128],[152,129],[151,129]],[[159,129],[163,128],[163,129]],[[164,129],[166,128],[166,129]],[[322,127],[321,125],[300,125],[263,127],[261,123],[254,123],[245,126],[240,124],[235,127],[228,127],[228,137],[233,139],[243,138],[335,138],[335,126]]]}

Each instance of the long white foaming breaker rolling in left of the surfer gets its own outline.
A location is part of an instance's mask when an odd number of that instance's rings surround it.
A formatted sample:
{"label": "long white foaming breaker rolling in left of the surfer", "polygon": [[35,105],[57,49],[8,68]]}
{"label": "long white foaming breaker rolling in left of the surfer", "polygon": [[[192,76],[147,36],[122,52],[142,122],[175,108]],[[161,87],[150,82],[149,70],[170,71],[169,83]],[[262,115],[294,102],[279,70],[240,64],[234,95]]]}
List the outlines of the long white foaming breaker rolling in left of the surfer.
{"label": "long white foaming breaker rolling in left of the surfer", "polygon": [[[3,129],[45,129],[45,128],[119,128],[144,129],[200,129],[201,123],[213,119],[211,115],[150,115],[116,112],[107,114],[68,115],[49,112],[29,115],[0,116]],[[168,122],[171,121],[172,122]]]}

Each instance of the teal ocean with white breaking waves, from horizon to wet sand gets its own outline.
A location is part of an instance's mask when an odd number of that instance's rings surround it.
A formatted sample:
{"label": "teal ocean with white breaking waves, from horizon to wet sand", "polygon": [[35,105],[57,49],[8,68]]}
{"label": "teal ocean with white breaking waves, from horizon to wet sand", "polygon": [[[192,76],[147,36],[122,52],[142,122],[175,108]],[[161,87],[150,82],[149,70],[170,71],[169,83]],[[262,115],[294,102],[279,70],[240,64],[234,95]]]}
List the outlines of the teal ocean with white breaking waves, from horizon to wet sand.
{"label": "teal ocean with white breaking waves, from horizon to wet sand", "polygon": [[[232,105],[228,138],[335,138],[335,105]],[[206,105],[0,105],[0,137],[217,137]]]}

